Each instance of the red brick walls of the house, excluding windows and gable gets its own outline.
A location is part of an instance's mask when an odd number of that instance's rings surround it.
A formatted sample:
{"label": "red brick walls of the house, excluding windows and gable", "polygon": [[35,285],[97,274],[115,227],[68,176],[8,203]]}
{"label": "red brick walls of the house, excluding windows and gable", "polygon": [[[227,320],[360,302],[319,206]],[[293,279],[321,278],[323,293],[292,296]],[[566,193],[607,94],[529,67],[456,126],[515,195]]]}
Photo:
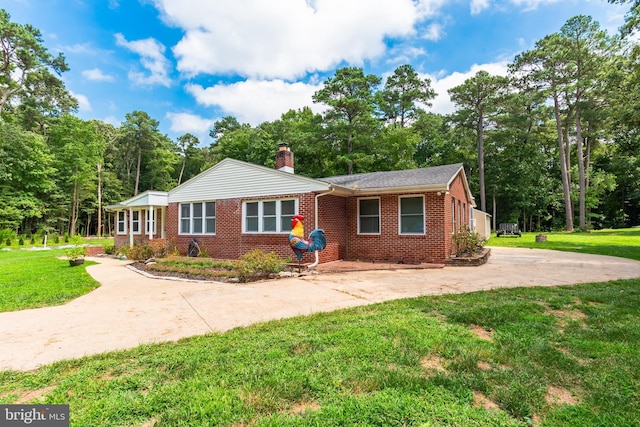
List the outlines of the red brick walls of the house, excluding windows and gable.
{"label": "red brick walls of the house, excluding windows and gable", "polygon": [[[251,198],[257,200],[298,199],[298,213],[305,216],[305,233],[315,227],[316,200],[318,201],[318,227],[325,230],[327,248],[320,252],[320,262],[339,259],[388,260],[403,262],[444,263],[452,253],[452,234],[461,224],[469,222],[467,189],[461,174],[457,175],[449,191],[383,194],[380,200],[380,233],[358,234],[359,197],[342,197],[332,194],[305,193],[274,197]],[[402,196],[424,197],[424,234],[403,235],[398,231],[398,204]],[[249,199],[247,199],[249,200]],[[166,209],[166,240],[175,244],[181,254],[186,254],[189,242],[195,237],[201,250],[213,258],[238,258],[253,250],[275,252],[283,258],[295,259],[289,247],[288,235],[283,233],[243,233],[243,199],[216,201],[216,233],[212,235],[180,235],[178,233],[178,203],[170,203]],[[459,202],[459,208],[458,208]],[[455,209],[455,219],[452,216]],[[144,230],[144,214],[141,228]],[[158,234],[160,234],[160,211]],[[454,221],[455,220],[455,228]],[[137,244],[147,244],[148,237],[136,235]],[[116,235],[116,247],[127,245],[128,236]],[[313,254],[305,254],[303,262],[314,261]]]}

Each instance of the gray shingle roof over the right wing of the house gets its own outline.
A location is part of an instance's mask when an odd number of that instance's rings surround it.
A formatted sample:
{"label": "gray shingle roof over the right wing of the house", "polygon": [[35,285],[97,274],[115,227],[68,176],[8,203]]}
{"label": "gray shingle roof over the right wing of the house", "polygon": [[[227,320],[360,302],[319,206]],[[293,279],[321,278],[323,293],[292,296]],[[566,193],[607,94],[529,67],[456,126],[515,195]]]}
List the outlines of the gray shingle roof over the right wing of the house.
{"label": "gray shingle roof over the right wing of the house", "polygon": [[433,166],[429,168],[333,176],[330,178],[318,178],[318,181],[324,181],[346,188],[358,188],[360,190],[445,186],[458,173],[461,167],[462,163],[456,163],[453,165]]}

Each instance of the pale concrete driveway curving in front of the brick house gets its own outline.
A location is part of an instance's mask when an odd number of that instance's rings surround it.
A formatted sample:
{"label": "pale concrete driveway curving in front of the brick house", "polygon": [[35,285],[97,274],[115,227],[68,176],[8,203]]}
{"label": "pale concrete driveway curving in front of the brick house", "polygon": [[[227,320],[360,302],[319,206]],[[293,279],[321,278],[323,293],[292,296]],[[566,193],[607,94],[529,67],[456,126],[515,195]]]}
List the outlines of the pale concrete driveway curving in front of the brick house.
{"label": "pale concrete driveway curving in front of the brick house", "polygon": [[0,370],[256,322],[397,298],[504,287],[640,278],[640,262],[536,249],[492,248],[481,267],[323,273],[248,285],[151,279],[110,258],[87,271],[102,286],[63,306],[0,313]]}

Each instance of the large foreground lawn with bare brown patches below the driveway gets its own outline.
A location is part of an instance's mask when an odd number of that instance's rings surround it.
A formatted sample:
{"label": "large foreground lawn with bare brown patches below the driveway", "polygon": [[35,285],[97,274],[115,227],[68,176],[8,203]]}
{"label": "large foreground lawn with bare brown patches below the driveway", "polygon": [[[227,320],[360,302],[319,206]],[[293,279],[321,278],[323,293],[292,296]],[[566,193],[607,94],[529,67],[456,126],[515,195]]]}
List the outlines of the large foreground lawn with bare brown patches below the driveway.
{"label": "large foreground lawn with bare brown patches below the driveway", "polygon": [[0,372],[71,425],[640,424],[640,280],[392,301]]}

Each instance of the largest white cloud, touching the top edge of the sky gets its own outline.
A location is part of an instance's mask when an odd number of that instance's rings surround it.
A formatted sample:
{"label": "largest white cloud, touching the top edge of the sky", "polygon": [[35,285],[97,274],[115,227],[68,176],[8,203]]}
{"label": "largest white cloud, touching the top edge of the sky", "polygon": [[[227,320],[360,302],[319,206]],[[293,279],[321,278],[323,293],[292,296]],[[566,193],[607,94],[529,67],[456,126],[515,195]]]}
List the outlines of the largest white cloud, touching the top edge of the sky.
{"label": "largest white cloud, touching the top edge of the sky", "polygon": [[186,75],[295,79],[381,57],[444,0],[154,0],[185,36],[173,47]]}

